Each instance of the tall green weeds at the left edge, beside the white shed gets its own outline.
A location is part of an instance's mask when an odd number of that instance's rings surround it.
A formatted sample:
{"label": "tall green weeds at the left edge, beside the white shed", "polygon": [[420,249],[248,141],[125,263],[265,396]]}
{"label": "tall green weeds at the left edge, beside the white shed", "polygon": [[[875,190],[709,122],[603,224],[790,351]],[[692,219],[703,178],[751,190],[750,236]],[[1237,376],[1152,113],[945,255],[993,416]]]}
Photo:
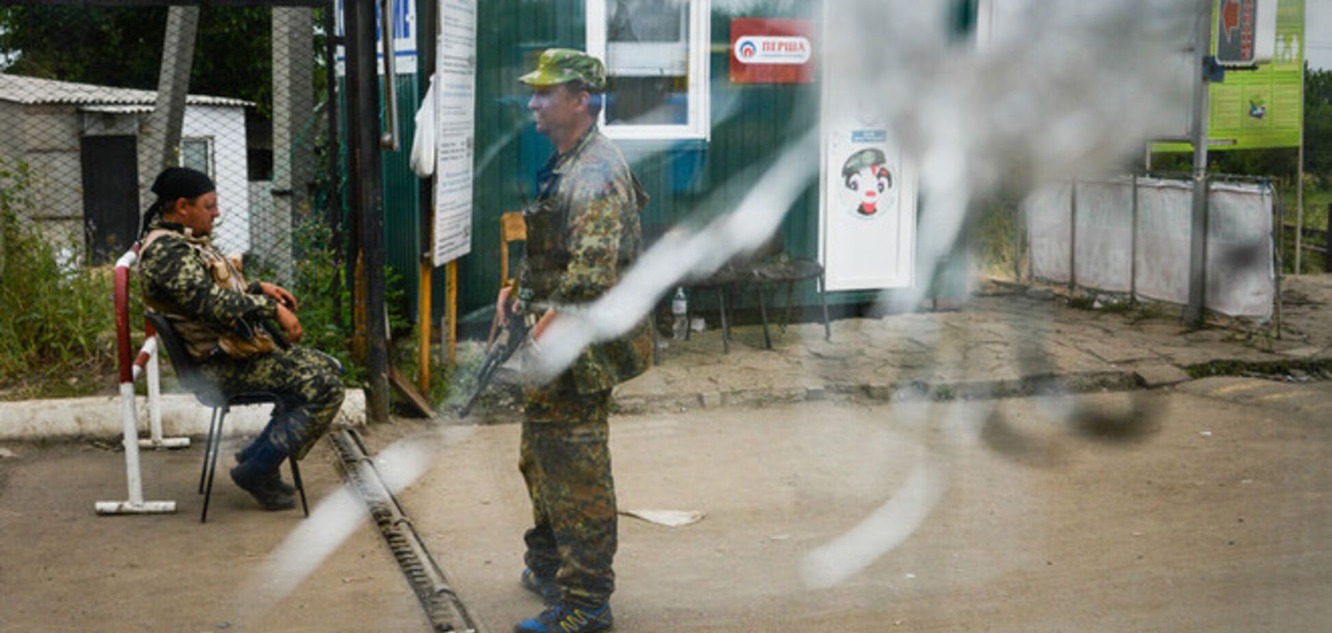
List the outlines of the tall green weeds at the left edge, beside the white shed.
{"label": "tall green weeds at the left edge, beside the white shed", "polygon": [[0,386],[55,382],[79,393],[80,376],[115,364],[113,277],[24,224],[36,211],[29,187],[25,164],[0,167]]}

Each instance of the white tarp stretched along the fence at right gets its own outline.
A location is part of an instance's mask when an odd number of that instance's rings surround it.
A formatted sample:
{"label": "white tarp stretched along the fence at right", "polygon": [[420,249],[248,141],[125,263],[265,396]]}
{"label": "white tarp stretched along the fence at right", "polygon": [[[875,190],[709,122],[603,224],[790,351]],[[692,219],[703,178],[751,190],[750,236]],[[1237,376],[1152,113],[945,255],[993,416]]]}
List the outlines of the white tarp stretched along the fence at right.
{"label": "white tarp stretched along the fence at right", "polygon": [[[1071,200],[1074,189],[1076,204]],[[1139,179],[1136,239],[1132,237],[1134,191],[1132,180],[1122,179],[1078,181],[1076,187],[1060,183],[1030,196],[1023,205],[1032,275],[1187,304],[1192,184]],[[1208,309],[1231,316],[1272,316],[1276,285],[1271,235],[1269,189],[1212,185],[1207,229]],[[1076,271],[1075,279],[1071,271]]]}

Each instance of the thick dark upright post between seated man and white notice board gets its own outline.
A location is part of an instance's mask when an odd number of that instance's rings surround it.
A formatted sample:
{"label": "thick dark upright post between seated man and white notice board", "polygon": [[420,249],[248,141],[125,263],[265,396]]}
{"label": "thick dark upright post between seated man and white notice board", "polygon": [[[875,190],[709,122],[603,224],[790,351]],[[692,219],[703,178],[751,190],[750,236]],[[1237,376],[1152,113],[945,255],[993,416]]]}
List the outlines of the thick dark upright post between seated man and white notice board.
{"label": "thick dark upright post between seated man and white notice board", "polygon": [[[373,422],[389,421],[388,324],[384,322],[384,195],[380,171],[380,101],[374,51],[374,0],[348,0],[346,111],[349,188],[360,209],[360,249],[365,261],[366,413]],[[389,43],[392,45],[392,41]],[[390,52],[392,55],[392,52]],[[393,81],[393,77],[385,77]],[[393,107],[396,104],[390,104]]]}

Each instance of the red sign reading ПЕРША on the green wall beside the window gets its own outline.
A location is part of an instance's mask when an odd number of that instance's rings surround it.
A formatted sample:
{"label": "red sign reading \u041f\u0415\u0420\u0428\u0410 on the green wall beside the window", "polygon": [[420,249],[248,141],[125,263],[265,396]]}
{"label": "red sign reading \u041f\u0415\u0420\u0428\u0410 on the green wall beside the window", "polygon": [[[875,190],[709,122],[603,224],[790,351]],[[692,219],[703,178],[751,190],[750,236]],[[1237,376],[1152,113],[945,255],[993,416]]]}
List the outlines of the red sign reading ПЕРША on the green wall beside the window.
{"label": "red sign reading \u041f\u0415\u0420\u0428\u0410 on the green wall beside the window", "polygon": [[809,84],[814,81],[814,29],[809,20],[731,20],[731,81]]}

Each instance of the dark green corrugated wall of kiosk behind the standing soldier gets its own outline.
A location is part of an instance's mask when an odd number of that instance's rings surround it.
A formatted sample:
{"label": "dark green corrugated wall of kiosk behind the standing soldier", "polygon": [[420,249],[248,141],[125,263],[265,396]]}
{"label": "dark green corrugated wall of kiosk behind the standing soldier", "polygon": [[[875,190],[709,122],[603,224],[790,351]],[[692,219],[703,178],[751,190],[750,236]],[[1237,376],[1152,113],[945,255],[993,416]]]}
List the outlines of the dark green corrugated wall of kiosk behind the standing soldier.
{"label": "dark green corrugated wall of kiosk behind the standing soldier", "polygon": [[[582,0],[493,1],[482,3],[480,9],[473,253],[460,260],[460,311],[474,313],[473,318],[489,318],[485,311],[493,305],[500,283],[500,215],[522,207],[521,196],[530,196],[534,175],[551,152],[551,145],[533,129],[526,111],[529,92],[517,77],[549,47],[582,48],[585,35]],[[761,9],[746,15],[797,17]],[[818,124],[817,84],[727,81],[730,17],[714,11],[711,20],[711,140],[618,143],[653,197],[642,219],[650,232],[689,217],[729,211],[759,176],[757,171],[746,171],[749,167],[773,160],[785,139]],[[719,105],[723,101],[725,108]],[[713,197],[717,192],[719,199]],[[715,204],[705,209],[705,200]],[[815,256],[817,225],[818,199],[811,187],[783,224],[789,252]],[[438,289],[442,292],[442,287]],[[442,305],[437,307],[437,316],[440,311]]]}

